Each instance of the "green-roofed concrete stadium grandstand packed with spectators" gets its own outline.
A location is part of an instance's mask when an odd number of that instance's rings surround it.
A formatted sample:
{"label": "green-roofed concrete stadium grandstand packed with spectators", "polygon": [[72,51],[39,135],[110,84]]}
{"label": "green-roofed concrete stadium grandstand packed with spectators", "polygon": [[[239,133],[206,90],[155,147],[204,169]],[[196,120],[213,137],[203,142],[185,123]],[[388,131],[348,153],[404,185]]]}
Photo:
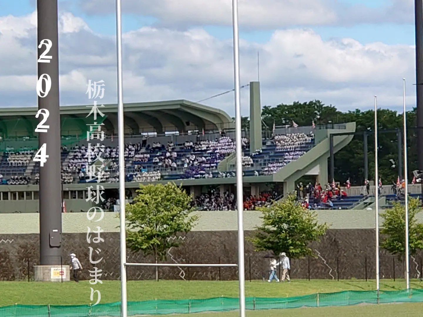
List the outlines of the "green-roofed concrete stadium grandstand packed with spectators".
{"label": "green-roofed concrete stadium grandstand packed with spectators", "polygon": [[[244,208],[254,209],[296,190],[296,181],[313,175],[328,184],[330,134],[355,131],[355,123],[330,127],[275,127],[262,129],[260,85],[250,83],[249,128],[242,131]],[[90,180],[87,169],[87,116],[91,106],[60,107],[61,166],[64,212],[86,211],[95,205],[118,208],[117,106],[104,105],[97,123],[102,124],[102,180]],[[235,141],[233,119],[220,109],[186,101],[160,101],[124,105],[126,197],[131,201],[139,183],[181,184],[199,209],[235,208]],[[38,212],[38,124],[34,108],[0,108],[0,212]],[[345,147],[352,135],[333,138],[333,153]],[[94,144],[91,145],[95,146]],[[86,186],[102,186],[104,202],[88,199]],[[307,188],[307,186],[304,186]],[[310,186],[314,188],[313,186]],[[305,189],[304,189],[305,190]],[[322,191],[324,189],[321,189]],[[297,189],[299,197],[302,196]],[[305,193],[307,197],[314,194]],[[305,196],[304,196],[305,198]],[[367,195],[332,199],[333,206],[354,208]],[[322,202],[309,197],[309,206]]]}

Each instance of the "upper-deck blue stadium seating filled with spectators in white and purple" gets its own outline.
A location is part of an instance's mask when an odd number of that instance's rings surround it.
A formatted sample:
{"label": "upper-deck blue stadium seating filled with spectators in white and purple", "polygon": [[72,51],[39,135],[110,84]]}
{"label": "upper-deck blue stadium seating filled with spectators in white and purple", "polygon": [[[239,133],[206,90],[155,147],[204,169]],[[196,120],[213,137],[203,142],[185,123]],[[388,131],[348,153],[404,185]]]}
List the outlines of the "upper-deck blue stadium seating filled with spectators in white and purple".
{"label": "upper-deck blue stadium seating filled with spectators in white and purple", "polygon": [[[154,140],[154,138],[151,138]],[[140,139],[141,141],[141,139]],[[263,143],[257,153],[249,154],[249,140],[242,139],[244,157],[242,165],[245,176],[270,175],[296,160],[314,146],[313,135],[285,134],[276,135],[274,139]],[[99,150],[96,150],[98,153]],[[179,144],[168,142],[162,145],[154,142],[147,147],[139,143],[125,145],[126,181],[140,182],[153,180],[177,180],[233,177],[234,171],[218,172],[217,165],[222,159],[235,152],[235,142],[230,137],[222,136],[214,140],[199,142],[182,138]],[[3,183],[11,175],[26,176],[28,183],[38,183],[39,163],[33,162],[34,151],[18,153],[5,152],[0,158],[0,174]],[[62,148],[62,182],[86,182],[87,148],[84,145]],[[29,157],[29,159],[28,159]],[[118,148],[104,147],[104,175],[102,182],[118,182]],[[16,181],[16,180],[14,180]]]}

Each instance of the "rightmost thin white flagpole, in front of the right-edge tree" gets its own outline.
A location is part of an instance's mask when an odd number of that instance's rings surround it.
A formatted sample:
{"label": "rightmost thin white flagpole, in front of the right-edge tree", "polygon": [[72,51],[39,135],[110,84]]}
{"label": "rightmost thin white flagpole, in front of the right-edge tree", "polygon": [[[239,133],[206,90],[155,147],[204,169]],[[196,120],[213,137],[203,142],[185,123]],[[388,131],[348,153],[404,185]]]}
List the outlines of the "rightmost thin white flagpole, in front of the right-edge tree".
{"label": "rightmost thin white flagpole, in front of the right-edge tree", "polygon": [[404,106],[404,182],[405,182],[405,280],[407,290],[410,288],[409,268],[409,242],[408,242],[408,167],[407,167],[407,111],[405,107],[405,78],[403,83],[403,106]]}

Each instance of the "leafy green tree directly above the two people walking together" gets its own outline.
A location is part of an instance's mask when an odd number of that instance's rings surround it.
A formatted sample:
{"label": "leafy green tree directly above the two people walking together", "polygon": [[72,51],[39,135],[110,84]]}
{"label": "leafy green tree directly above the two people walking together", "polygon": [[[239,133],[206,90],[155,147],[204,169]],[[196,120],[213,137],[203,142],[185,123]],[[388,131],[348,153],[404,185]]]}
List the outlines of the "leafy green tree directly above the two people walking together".
{"label": "leafy green tree directly above the two people walking together", "polygon": [[256,251],[286,252],[294,259],[314,256],[309,243],[318,241],[326,233],[328,225],[318,224],[316,213],[302,208],[295,195],[259,210],[263,224],[256,227],[255,235],[249,238]]}

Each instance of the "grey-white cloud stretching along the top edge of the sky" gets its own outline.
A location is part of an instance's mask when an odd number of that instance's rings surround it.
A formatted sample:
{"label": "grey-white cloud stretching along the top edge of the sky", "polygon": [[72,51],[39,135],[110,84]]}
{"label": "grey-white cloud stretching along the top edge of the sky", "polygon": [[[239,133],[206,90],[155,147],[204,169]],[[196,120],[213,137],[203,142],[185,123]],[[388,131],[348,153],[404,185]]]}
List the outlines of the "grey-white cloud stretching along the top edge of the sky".
{"label": "grey-white cloud stretching along the top edge of the sky", "polygon": [[[81,0],[89,14],[115,12],[114,0]],[[413,23],[413,0],[390,0],[379,8],[339,0],[239,0],[239,23],[247,29],[354,25],[357,23]],[[126,0],[127,14],[152,16],[160,26],[232,25],[231,0]]]}

